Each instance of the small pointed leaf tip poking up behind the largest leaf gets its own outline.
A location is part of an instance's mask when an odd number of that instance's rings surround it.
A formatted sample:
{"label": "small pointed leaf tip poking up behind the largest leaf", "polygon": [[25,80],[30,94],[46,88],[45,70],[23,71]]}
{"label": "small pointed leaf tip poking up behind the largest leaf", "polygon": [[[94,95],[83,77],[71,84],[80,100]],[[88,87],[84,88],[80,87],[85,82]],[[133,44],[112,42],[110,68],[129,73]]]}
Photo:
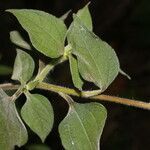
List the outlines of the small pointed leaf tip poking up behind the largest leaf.
{"label": "small pointed leaf tip poking up behind the largest leaf", "polygon": [[89,3],[85,7],[80,9],[76,15],[81,19],[81,21],[84,23],[84,25],[90,31],[92,31],[92,29],[93,29],[92,18],[91,18],[91,14],[90,14],[88,6],[89,6]]}

